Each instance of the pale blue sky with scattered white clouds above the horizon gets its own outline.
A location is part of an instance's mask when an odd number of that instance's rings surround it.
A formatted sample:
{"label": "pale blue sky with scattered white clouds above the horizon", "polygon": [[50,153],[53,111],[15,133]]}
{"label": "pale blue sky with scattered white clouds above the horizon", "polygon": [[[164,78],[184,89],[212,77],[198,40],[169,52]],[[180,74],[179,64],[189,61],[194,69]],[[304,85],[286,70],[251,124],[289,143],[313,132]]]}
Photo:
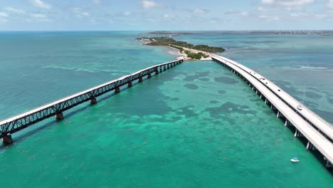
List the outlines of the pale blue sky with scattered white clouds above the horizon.
{"label": "pale blue sky with scattered white clouds above the horizon", "polygon": [[0,31],[333,30],[333,0],[0,0]]}

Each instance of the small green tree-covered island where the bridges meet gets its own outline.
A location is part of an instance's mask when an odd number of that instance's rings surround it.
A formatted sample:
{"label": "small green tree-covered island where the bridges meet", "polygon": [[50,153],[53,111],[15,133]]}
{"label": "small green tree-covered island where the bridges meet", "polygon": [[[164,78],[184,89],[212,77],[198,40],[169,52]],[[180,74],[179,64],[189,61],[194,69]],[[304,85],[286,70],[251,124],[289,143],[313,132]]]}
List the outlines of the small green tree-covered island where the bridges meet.
{"label": "small green tree-covered island where the bridges meet", "polygon": [[209,53],[221,53],[225,51],[221,47],[212,47],[207,45],[193,45],[184,41],[176,41],[170,37],[139,37],[138,41],[144,41],[147,46],[169,46],[175,48],[186,57],[186,59],[204,59],[209,57]]}

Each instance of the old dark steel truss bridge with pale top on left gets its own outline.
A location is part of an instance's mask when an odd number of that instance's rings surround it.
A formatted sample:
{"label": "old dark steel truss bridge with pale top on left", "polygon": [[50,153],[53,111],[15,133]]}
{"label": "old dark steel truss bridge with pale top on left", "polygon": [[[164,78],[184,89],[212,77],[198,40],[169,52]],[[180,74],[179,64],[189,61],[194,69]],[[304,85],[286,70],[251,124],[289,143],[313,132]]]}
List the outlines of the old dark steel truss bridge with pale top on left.
{"label": "old dark steel truss bridge with pale top on left", "polygon": [[94,88],[90,88],[74,95],[70,95],[53,103],[43,105],[33,110],[28,110],[26,113],[15,115],[14,117],[9,117],[6,120],[1,120],[0,138],[2,138],[2,142],[4,142],[5,144],[10,144],[11,142],[13,142],[11,134],[13,134],[14,132],[23,130],[24,128],[31,126],[36,122],[45,120],[48,117],[55,116],[57,120],[62,120],[63,112],[65,110],[80,105],[81,103],[85,103],[88,100],[90,100],[91,104],[96,104],[96,98],[100,95],[108,93],[112,90],[114,90],[115,93],[120,93],[121,86],[127,85],[128,87],[131,87],[134,80],[138,80],[138,82],[140,83],[143,81],[143,78],[145,76],[147,76],[147,78],[151,78],[152,73],[154,73],[155,75],[162,73],[163,71],[177,66],[180,63],[183,63],[183,60],[171,61],[168,63],[159,64],[157,66],[145,68],[137,71],[136,73],[122,76],[117,80],[112,80],[110,82],[103,83],[102,85],[97,85]]}

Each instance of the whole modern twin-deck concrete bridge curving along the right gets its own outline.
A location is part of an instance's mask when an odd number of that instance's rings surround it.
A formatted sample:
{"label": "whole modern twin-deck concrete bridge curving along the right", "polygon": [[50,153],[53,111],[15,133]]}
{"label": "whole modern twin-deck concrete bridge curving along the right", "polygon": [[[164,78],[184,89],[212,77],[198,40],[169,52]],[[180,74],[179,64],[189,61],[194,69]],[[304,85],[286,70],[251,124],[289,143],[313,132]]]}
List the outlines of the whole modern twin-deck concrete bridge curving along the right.
{"label": "whole modern twin-deck concrete bridge curving along the right", "polygon": [[260,98],[270,105],[270,109],[277,113],[277,117],[285,120],[285,126],[295,127],[295,137],[307,138],[307,150],[318,150],[326,160],[326,167],[332,167],[333,129],[328,122],[305,107],[297,110],[297,105],[300,103],[295,98],[250,68],[221,56],[211,54],[211,57],[213,61],[220,63],[245,80],[252,90],[255,90]]}

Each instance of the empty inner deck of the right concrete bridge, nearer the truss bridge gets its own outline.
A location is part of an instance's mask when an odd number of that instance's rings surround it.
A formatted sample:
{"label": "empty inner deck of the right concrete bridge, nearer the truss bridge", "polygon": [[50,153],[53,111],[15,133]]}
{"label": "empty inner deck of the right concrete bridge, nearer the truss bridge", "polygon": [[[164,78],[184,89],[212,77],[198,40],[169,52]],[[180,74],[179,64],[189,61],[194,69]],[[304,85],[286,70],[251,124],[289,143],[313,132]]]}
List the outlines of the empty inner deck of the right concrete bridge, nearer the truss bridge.
{"label": "empty inner deck of the right concrete bridge, nearer the truss bridge", "polygon": [[267,100],[270,101],[272,105],[279,110],[282,115],[284,115],[287,120],[289,120],[292,125],[294,125],[298,131],[304,135],[307,140],[309,140],[314,147],[319,150],[319,152],[327,158],[329,162],[333,162],[333,144],[326,137],[320,134],[309,122],[305,121],[300,115],[298,115],[295,110],[290,108],[285,102],[283,102],[275,93],[273,93],[270,89],[265,87],[263,83],[254,78],[252,75],[234,65],[233,63],[229,63],[224,58],[219,56],[213,56],[216,60],[221,63],[226,64],[227,66],[233,68],[233,70],[237,71],[240,75],[243,76],[246,80],[248,80],[257,90],[262,93]]}

